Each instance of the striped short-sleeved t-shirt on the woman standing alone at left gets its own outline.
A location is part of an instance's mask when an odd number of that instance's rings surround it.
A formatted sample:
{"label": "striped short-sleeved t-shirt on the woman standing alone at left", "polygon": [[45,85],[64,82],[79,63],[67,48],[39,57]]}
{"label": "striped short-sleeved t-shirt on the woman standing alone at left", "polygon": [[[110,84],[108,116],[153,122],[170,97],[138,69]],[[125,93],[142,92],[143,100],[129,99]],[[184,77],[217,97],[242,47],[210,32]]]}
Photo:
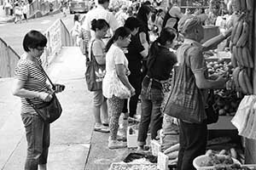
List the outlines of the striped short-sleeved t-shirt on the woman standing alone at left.
{"label": "striped short-sleeved t-shirt on the woman standing alone at left", "polygon": [[[38,64],[41,65],[41,59],[38,60]],[[15,78],[20,81],[25,81],[24,87],[30,91],[47,92],[47,77],[44,75],[44,71],[28,59],[20,59],[15,68]],[[42,99],[33,98],[30,99],[34,105],[42,104]],[[25,98],[21,98],[21,113],[37,114],[36,111],[26,102]]]}

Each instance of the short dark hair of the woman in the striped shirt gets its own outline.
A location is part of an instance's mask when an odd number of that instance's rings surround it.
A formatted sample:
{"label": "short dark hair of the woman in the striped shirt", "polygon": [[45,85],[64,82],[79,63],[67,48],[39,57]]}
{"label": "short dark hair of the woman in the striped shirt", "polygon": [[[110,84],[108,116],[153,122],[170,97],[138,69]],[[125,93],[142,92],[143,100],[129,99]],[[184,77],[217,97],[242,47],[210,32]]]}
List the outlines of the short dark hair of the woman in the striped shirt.
{"label": "short dark hair of the woman in the striped shirt", "polygon": [[47,38],[40,31],[29,31],[26,33],[23,39],[23,48],[26,52],[29,52],[29,48],[45,47],[47,44]]}

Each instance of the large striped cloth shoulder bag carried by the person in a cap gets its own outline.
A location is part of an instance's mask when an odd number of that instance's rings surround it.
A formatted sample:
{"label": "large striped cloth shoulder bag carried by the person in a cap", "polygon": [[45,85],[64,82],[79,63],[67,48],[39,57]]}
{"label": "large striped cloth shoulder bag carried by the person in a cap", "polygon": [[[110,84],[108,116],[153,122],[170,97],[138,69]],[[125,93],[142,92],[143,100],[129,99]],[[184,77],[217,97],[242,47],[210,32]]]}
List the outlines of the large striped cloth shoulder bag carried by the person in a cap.
{"label": "large striped cloth shoulder bag carried by the person in a cap", "polygon": [[197,88],[195,76],[187,64],[186,51],[188,49],[181,52],[184,56],[183,63],[174,67],[171,93],[167,99],[164,113],[186,122],[202,123],[207,116],[201,89]]}

